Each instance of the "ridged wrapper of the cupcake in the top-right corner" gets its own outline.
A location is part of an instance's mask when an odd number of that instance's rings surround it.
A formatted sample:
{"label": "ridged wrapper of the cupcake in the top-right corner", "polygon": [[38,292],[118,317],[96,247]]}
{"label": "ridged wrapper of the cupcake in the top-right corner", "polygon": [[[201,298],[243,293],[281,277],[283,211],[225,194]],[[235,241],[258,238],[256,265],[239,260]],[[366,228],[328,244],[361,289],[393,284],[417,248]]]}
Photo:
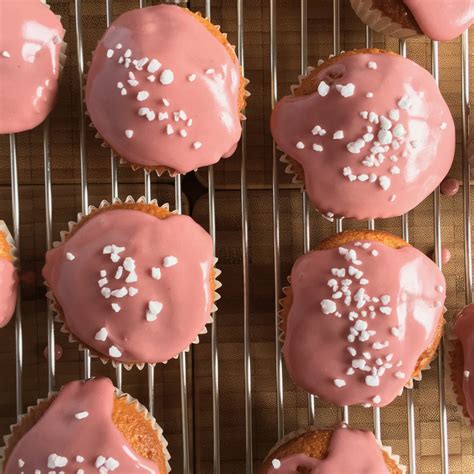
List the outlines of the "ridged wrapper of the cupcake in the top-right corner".
{"label": "ridged wrapper of the cupcake in the top-right corner", "polygon": [[374,7],[372,0],[351,0],[351,5],[357,16],[378,33],[401,39],[420,35],[418,31],[403,27],[400,23],[384,15],[382,11]]}

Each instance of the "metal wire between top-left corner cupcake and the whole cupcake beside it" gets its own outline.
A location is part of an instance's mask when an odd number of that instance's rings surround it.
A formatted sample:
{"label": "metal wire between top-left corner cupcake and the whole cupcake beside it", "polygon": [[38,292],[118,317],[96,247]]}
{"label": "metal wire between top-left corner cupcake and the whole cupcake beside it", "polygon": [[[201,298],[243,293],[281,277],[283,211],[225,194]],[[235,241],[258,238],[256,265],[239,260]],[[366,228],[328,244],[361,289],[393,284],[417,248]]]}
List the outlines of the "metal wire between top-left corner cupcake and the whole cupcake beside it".
{"label": "metal wire between top-left corner cupcake and the whole cupcake beside it", "polygon": [[[89,207],[89,191],[87,185],[87,155],[86,155],[86,118],[84,113],[84,52],[82,49],[82,0],[75,0],[76,15],[76,46],[77,46],[77,73],[79,83],[79,156],[81,159],[81,207],[82,213],[87,214]],[[91,376],[91,354],[89,349],[84,350],[84,379]]]}

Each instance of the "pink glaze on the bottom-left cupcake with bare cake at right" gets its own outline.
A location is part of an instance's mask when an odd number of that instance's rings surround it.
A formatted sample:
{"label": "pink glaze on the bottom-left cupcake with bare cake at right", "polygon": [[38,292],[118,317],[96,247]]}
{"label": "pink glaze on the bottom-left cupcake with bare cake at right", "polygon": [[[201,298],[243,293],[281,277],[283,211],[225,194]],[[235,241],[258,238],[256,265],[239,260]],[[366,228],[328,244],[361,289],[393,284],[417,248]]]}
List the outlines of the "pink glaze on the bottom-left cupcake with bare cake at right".
{"label": "pink glaze on the bottom-left cupcake with bare cake at right", "polygon": [[[119,462],[115,472],[160,473],[158,466],[135,453],[112,422],[115,388],[109,379],[70,382],[59,392],[46,413],[17,443],[5,467],[5,474],[99,472],[99,456]],[[88,416],[77,419],[77,413]],[[62,467],[48,466],[50,455],[66,458]],[[84,458],[77,462],[76,457]],[[24,463],[22,467],[20,464]],[[112,470],[109,470],[112,472]]]}

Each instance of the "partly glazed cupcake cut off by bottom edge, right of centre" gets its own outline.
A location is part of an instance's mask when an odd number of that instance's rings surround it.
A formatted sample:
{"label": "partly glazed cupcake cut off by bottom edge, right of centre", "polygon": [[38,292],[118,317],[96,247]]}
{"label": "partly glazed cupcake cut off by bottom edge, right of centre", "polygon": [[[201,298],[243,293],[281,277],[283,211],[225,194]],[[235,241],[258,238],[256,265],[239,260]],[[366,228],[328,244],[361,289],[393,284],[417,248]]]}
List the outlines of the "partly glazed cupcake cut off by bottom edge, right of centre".
{"label": "partly glazed cupcake cut off by bottom edge, right of centre", "polygon": [[406,472],[391,448],[382,446],[370,431],[340,424],[315,427],[287,435],[268,454],[259,474],[351,473],[401,474]]}

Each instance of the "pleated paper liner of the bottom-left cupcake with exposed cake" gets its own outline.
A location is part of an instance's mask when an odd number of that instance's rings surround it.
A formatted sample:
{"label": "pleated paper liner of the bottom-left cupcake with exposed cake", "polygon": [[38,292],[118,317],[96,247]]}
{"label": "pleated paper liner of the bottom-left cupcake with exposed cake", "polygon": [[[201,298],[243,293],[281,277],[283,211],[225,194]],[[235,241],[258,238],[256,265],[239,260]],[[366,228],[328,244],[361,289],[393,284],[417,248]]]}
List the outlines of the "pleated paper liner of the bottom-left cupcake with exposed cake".
{"label": "pleated paper liner of the bottom-left cupcake with exposed cake", "polygon": [[[4,470],[5,453],[6,453],[7,449],[9,448],[9,443],[10,443],[10,440],[13,436],[13,430],[15,428],[19,427],[22,423],[22,420],[24,418],[28,417],[32,412],[34,412],[37,409],[37,407],[40,403],[47,402],[47,401],[51,400],[51,398],[53,396],[55,397],[58,393],[59,392],[55,392],[55,393],[51,394],[51,396],[49,398],[38,398],[37,402],[36,402],[36,405],[29,406],[28,409],[26,410],[26,413],[24,413],[24,414],[22,414],[18,417],[17,423],[14,423],[14,424],[10,425],[10,433],[3,436],[4,445],[0,447],[0,473],[3,472],[3,470]],[[130,406],[135,405],[135,409],[137,410],[137,412],[143,414],[144,417],[145,417],[145,420],[148,421],[151,424],[151,426],[153,428],[153,431],[155,431],[155,433],[158,436],[158,440],[159,440],[160,445],[161,445],[162,450],[163,450],[163,454],[164,454],[165,462],[166,462],[166,472],[167,473],[171,472],[171,466],[170,466],[170,463],[169,463],[169,461],[171,459],[171,455],[168,451],[168,441],[166,440],[166,438],[163,435],[163,428],[161,428],[161,426],[156,421],[155,417],[137,399],[133,398],[128,393],[122,392],[120,389],[115,388],[115,397],[120,398],[120,397],[123,397],[123,396],[126,397],[127,404],[130,405]],[[45,412],[47,410],[48,409],[46,409]]]}

